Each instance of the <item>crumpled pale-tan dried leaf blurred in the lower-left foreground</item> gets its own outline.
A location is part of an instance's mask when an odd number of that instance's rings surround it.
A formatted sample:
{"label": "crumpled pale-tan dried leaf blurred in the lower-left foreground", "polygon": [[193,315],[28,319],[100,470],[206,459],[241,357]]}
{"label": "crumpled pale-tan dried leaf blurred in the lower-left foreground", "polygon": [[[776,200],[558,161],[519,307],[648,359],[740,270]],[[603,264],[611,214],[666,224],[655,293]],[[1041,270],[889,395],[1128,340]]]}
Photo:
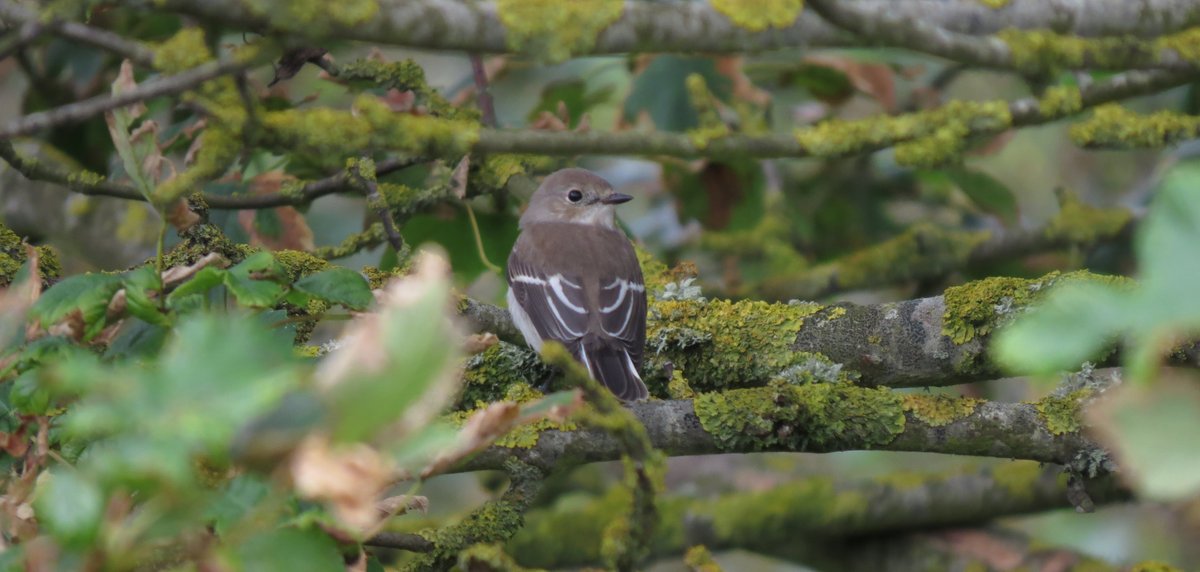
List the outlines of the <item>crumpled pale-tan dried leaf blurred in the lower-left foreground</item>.
{"label": "crumpled pale-tan dried leaf blurred in the lower-left foreground", "polygon": [[352,530],[366,531],[379,520],[376,498],[391,481],[391,466],[376,450],[361,445],[334,448],[320,435],[310,435],[289,464],[296,492],[325,502]]}

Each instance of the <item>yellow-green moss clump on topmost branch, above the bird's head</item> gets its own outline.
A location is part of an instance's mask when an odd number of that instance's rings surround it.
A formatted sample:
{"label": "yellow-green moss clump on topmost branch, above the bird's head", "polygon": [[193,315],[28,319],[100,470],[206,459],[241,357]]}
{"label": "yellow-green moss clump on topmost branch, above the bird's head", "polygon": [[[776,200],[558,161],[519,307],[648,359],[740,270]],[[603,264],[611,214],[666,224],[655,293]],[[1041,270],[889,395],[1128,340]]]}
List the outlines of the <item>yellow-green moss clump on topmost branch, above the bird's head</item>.
{"label": "yellow-green moss clump on topmost branch, above the bird's head", "polygon": [[498,0],[496,13],[510,48],[559,62],[590,50],[624,6],[623,0]]}

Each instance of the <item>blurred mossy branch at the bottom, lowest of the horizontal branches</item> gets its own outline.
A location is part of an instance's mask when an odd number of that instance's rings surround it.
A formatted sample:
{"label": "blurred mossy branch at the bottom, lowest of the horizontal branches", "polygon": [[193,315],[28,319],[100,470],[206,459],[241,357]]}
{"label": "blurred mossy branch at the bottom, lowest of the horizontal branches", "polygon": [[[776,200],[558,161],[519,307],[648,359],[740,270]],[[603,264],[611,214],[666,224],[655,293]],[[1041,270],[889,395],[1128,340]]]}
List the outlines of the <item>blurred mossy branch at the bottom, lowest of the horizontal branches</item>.
{"label": "blurred mossy branch at the bottom, lowest of the horizontal branches", "polygon": [[[1112,477],[1090,482],[1087,492],[1100,504],[1128,498]],[[839,538],[856,538],[851,546],[857,547],[864,536],[1068,508],[1067,496],[1062,468],[1032,462],[948,474],[893,474],[857,482],[810,477],[709,499],[665,496],[660,501],[664,520],[673,525],[655,534],[650,546],[653,555],[667,556],[697,543],[767,553],[803,544],[808,549],[803,552],[816,558],[836,558],[842,548]],[[600,532],[617,517],[618,500],[613,494],[586,501],[576,498],[530,511],[526,528],[509,542],[509,552],[523,565],[551,570],[598,564]],[[545,542],[551,536],[560,542]]]}

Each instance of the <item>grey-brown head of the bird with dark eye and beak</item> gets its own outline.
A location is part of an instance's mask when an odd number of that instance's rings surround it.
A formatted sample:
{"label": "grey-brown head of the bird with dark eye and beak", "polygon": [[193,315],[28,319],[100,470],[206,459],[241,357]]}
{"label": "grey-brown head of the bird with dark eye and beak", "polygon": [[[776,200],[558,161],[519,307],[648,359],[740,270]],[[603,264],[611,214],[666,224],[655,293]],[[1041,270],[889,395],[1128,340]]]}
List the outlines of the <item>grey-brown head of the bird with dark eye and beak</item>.
{"label": "grey-brown head of the bird with dark eye and beak", "polygon": [[529,198],[521,225],[538,222],[599,224],[613,228],[613,207],[632,197],[587,169],[562,169],[547,176]]}

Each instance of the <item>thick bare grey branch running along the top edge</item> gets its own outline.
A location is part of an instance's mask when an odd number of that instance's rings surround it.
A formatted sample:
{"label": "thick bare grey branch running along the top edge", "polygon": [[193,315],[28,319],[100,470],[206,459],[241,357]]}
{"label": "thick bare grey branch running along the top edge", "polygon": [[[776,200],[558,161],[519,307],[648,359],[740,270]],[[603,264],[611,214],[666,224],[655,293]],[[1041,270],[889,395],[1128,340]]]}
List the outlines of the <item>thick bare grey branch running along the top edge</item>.
{"label": "thick bare grey branch running along the top edge", "polygon": [[[124,4],[166,7],[235,29],[288,29],[283,19],[252,8],[244,0],[126,0]],[[1157,36],[1200,23],[1189,0],[1092,0],[1051,2],[1010,0],[996,10],[976,1],[856,0],[868,13],[888,12],[905,20],[922,20],[961,34],[995,34],[1007,28],[1045,29],[1080,36]],[[360,23],[324,20],[320,35],[413,48],[473,53],[515,52],[496,2],[452,0],[385,1]],[[436,24],[433,24],[436,23]],[[811,11],[792,25],[751,32],[738,28],[708,2],[626,1],[620,17],[595,44],[576,55],[629,52],[745,53],[781,48],[851,47],[862,40],[830,26]]]}

